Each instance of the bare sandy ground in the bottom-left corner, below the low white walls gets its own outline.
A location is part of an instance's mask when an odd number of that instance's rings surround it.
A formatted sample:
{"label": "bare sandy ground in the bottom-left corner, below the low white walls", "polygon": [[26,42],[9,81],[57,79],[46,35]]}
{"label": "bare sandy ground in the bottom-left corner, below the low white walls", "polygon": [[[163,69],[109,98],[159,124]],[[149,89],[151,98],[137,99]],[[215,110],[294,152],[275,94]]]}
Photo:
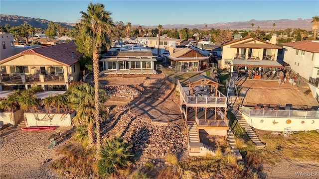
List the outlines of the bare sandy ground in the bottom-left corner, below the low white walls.
{"label": "bare sandy ground in the bottom-left corner, below the low white walls", "polygon": [[[41,132],[21,131],[19,128],[0,131],[0,179],[63,179],[50,170],[51,162],[42,163],[55,159],[55,148],[48,149],[49,137],[69,129],[71,127]],[[57,141],[57,145],[64,142]]]}

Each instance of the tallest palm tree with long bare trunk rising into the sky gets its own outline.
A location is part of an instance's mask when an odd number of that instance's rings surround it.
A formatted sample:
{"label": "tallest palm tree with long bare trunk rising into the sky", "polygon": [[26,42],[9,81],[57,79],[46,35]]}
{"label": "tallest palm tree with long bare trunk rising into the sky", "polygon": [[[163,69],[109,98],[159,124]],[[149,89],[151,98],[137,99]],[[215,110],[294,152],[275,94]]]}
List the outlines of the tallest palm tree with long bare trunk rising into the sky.
{"label": "tallest palm tree with long bare trunk rising into the sky", "polygon": [[83,36],[85,37],[85,48],[87,51],[93,51],[93,75],[94,75],[94,101],[96,121],[96,142],[97,153],[101,151],[101,132],[100,132],[100,96],[99,96],[99,53],[104,45],[110,48],[112,26],[114,26],[111,18],[112,12],[106,11],[104,4],[92,2],[89,3],[87,12],[80,12],[82,15],[81,23],[83,25]]}

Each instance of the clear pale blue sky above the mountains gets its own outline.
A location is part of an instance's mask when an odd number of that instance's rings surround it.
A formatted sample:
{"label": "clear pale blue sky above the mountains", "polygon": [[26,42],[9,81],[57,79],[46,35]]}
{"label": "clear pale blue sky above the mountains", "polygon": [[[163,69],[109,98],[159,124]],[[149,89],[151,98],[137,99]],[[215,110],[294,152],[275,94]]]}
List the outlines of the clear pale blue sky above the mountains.
{"label": "clear pale blue sky above the mountains", "polygon": [[319,0],[0,0],[0,14],[76,23],[89,2],[103,3],[113,21],[133,25],[294,20],[319,15]]}

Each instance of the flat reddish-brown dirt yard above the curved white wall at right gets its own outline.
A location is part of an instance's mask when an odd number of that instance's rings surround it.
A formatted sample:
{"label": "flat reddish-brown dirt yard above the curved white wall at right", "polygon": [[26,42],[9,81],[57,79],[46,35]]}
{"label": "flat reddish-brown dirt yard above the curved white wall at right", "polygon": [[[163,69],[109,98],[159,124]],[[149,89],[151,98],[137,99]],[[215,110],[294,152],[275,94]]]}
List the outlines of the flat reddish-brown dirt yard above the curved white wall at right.
{"label": "flat reddish-brown dirt yard above the curved white wall at right", "polygon": [[286,104],[317,106],[318,102],[309,91],[309,86],[303,85],[298,88],[289,82],[261,80],[241,80],[237,82],[240,88],[240,96],[243,105],[262,104]]}

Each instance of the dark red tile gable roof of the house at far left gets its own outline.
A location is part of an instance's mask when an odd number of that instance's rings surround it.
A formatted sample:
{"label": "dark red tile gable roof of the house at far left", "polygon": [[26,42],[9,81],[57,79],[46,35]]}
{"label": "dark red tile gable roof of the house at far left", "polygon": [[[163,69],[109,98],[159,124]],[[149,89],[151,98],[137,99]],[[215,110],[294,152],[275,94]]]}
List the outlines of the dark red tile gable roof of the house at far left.
{"label": "dark red tile gable roof of the house at far left", "polygon": [[[53,62],[59,63],[61,65],[70,67],[71,65],[78,62],[79,58],[83,55],[80,52],[76,51],[76,48],[77,47],[73,42],[36,47],[24,50],[16,55],[3,59],[0,61],[0,64],[25,54],[34,54]],[[72,52],[74,52],[74,58],[72,58]]]}

